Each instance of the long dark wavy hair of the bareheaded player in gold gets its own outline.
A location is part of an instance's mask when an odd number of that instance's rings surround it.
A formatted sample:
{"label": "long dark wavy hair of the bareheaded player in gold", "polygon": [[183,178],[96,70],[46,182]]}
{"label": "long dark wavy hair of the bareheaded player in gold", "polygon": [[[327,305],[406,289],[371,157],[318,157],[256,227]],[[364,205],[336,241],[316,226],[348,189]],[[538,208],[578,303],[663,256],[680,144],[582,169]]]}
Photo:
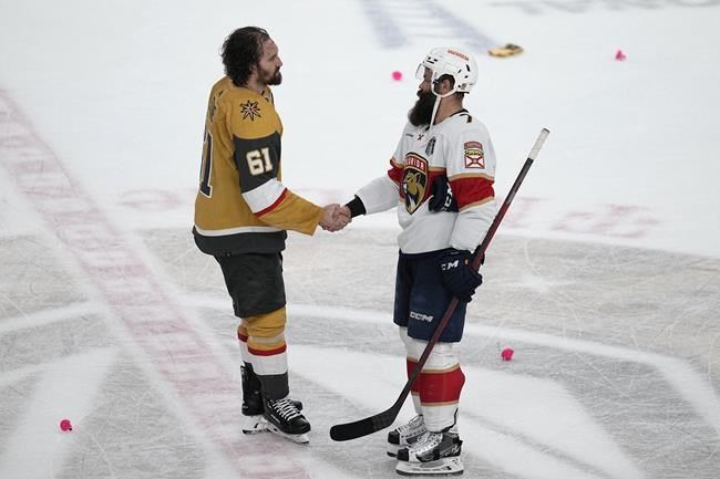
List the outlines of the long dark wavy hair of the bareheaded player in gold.
{"label": "long dark wavy hair of the bareheaded player in gold", "polygon": [[260,63],[263,43],[270,39],[269,33],[258,27],[243,27],[230,33],[223,42],[223,64],[225,74],[235,86],[244,86],[253,67]]}

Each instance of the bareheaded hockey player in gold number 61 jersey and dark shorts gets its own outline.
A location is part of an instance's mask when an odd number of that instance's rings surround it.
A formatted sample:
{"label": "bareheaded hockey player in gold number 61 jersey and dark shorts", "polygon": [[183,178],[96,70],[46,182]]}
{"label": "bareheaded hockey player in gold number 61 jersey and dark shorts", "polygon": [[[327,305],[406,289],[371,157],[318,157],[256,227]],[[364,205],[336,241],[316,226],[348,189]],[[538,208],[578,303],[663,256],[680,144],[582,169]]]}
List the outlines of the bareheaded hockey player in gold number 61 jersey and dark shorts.
{"label": "bareheaded hockey player in gold number 61 jersey and dark shorts", "polygon": [[244,431],[271,430],[307,442],[310,424],[289,398],[282,257],[286,230],[313,235],[349,221],[281,183],[282,123],[270,85],[282,62],[267,31],[246,27],[223,44],[226,76],[210,91],[193,233],[220,264],[243,355]]}

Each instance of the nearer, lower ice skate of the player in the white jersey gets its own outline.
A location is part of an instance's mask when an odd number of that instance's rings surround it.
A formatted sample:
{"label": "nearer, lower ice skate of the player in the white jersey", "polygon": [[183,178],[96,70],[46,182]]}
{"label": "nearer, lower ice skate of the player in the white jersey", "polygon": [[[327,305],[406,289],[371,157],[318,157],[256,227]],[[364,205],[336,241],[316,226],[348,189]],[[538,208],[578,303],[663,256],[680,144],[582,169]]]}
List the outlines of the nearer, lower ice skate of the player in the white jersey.
{"label": "nearer, lower ice skate of the player in the white jersey", "polygon": [[402,476],[454,476],[463,473],[462,440],[455,433],[423,434],[409,447],[398,450],[395,471]]}

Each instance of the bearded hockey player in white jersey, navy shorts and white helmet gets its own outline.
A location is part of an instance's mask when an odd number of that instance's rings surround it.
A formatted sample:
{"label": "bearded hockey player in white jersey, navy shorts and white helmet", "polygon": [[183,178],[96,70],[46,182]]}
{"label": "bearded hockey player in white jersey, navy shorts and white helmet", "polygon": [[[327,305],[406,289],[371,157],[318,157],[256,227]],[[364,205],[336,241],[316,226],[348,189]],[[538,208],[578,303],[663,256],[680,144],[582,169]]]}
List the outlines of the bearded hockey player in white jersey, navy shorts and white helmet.
{"label": "bearded hockey player in white jersey, navy shorts and white helmet", "polygon": [[482,283],[472,252],[496,212],[495,152],[485,126],[464,107],[477,80],[473,58],[433,49],[418,67],[419,100],[387,175],[346,205],[352,217],[395,207],[402,231],[393,321],[410,374],[453,296],[460,303],[412,387],[416,416],[388,435],[401,475],[463,472],[457,418],[465,376],[456,344]]}

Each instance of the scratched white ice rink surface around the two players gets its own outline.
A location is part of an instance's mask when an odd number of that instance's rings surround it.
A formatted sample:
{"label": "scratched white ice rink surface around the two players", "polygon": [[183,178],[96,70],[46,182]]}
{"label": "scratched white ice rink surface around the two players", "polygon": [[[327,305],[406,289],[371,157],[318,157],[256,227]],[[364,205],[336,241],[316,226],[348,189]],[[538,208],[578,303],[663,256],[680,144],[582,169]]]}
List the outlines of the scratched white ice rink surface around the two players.
{"label": "scratched white ice rink surface around the two players", "polygon": [[469,308],[464,477],[720,476],[720,0],[145,3],[0,3],[1,479],[398,477],[384,430],[328,435],[404,384],[392,212],[290,235],[311,441],[240,433],[236,320],[189,229],[245,24],[278,42],[284,180],[319,204],[383,174],[438,44],[479,56],[501,199],[552,132]]}

